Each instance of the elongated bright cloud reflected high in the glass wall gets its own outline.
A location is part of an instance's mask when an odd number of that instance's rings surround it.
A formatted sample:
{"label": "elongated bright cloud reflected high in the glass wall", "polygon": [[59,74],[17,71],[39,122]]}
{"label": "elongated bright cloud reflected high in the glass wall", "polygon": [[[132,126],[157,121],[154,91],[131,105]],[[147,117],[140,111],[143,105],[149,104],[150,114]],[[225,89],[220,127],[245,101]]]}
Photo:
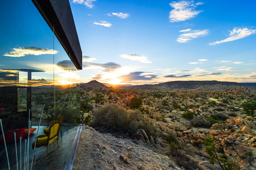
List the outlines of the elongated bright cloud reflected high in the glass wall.
{"label": "elongated bright cloud reflected high in the glass wall", "polygon": [[13,48],[13,51],[6,52],[3,56],[10,57],[22,57],[25,55],[39,56],[42,54],[57,54],[59,51],[48,49],[48,48],[37,48],[37,47],[18,47]]}

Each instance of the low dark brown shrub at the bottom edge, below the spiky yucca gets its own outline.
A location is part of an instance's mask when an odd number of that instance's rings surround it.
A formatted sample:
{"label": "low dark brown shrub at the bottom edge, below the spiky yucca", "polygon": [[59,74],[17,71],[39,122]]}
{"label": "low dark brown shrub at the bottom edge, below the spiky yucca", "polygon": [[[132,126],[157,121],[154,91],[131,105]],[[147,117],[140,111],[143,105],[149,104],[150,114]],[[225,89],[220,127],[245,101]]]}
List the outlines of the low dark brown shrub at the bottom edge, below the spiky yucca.
{"label": "low dark brown shrub at the bottom edge, below the spiky yucca", "polygon": [[169,154],[175,158],[177,165],[182,166],[186,170],[203,170],[201,167],[199,167],[197,162],[194,162],[191,158],[181,153],[181,151],[176,148],[170,148]]}

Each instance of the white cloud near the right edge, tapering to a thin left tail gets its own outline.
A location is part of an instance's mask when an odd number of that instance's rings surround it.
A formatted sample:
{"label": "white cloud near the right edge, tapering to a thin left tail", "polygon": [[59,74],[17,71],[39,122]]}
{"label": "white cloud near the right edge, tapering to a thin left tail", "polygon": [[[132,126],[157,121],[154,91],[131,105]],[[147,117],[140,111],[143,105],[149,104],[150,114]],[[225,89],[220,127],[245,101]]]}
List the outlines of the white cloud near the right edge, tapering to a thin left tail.
{"label": "white cloud near the right edge, tapering to a thin left tail", "polygon": [[250,36],[255,33],[256,33],[255,29],[253,30],[253,29],[249,29],[247,27],[245,27],[245,28],[234,27],[233,30],[229,31],[228,38],[221,40],[221,41],[215,41],[215,42],[209,43],[209,45],[216,45],[216,44],[221,44],[223,42],[238,40],[238,39]]}

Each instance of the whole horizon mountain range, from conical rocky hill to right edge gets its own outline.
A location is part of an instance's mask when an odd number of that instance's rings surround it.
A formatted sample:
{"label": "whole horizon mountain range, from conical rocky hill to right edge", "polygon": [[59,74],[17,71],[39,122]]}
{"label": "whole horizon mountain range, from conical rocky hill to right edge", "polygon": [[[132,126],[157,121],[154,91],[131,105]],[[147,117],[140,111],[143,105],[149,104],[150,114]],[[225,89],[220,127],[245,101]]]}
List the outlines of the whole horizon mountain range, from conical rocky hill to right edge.
{"label": "whole horizon mountain range, from conical rocky hill to right edge", "polygon": [[[88,83],[81,83],[81,88],[92,88],[95,90],[101,89],[131,89],[131,88],[149,88],[149,89],[162,89],[162,88],[197,88],[202,85],[237,85],[237,86],[252,86],[256,87],[256,83],[237,83],[228,81],[169,81],[165,83],[159,83],[155,85],[144,84],[144,85],[111,85],[108,83],[100,83],[96,80]],[[113,87],[114,88],[113,88]]]}

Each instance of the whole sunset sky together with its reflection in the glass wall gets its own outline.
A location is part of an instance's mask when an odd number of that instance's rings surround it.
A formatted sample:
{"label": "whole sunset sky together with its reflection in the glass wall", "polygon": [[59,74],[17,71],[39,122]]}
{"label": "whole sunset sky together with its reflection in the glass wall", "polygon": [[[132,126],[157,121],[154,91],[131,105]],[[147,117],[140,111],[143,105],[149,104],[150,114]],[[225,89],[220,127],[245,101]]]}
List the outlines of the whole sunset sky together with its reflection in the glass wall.
{"label": "whole sunset sky together with its reflection in the glass wall", "polygon": [[[81,82],[256,82],[255,1],[69,2],[83,52]],[[38,84],[52,84],[54,75],[57,85],[79,81],[33,2],[3,1],[0,14],[0,86],[17,83],[22,69],[40,70],[32,73]]]}

